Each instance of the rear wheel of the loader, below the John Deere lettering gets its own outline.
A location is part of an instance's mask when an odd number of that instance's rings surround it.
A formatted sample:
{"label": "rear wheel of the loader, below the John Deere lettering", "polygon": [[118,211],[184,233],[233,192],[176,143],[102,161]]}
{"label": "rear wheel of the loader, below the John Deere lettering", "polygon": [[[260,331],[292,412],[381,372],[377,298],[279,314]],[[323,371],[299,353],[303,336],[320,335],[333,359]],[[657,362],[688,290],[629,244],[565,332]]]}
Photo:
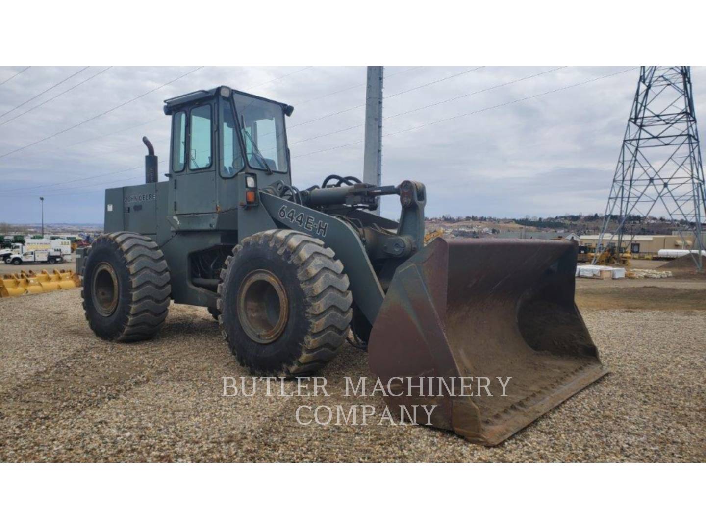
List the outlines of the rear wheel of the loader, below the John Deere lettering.
{"label": "rear wheel of the loader, below the John Deere lettering", "polygon": [[97,336],[138,341],[157,334],[169,309],[169,269],[151,238],[119,231],[92,244],[83,267],[83,309]]}

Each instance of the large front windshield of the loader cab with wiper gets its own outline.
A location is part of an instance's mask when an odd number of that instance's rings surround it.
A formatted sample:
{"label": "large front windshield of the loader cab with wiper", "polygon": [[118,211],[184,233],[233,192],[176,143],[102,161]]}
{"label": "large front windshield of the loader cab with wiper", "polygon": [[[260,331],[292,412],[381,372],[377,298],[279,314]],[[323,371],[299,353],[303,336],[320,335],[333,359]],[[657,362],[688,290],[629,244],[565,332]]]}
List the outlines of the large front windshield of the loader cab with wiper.
{"label": "large front windshield of the loader cab with wiper", "polygon": [[287,171],[285,114],[276,103],[234,94],[248,164],[256,169]]}

